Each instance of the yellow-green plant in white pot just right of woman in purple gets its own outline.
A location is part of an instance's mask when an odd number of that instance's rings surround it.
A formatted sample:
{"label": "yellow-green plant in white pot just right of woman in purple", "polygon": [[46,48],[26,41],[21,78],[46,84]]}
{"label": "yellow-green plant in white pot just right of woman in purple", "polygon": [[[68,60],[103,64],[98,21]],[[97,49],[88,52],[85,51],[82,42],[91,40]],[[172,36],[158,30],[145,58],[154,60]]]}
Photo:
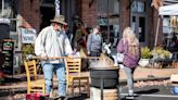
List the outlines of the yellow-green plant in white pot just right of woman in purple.
{"label": "yellow-green plant in white pot just right of woman in purple", "polygon": [[150,48],[149,47],[142,47],[141,48],[141,59],[139,61],[139,65],[140,66],[149,65],[150,57],[151,57]]}

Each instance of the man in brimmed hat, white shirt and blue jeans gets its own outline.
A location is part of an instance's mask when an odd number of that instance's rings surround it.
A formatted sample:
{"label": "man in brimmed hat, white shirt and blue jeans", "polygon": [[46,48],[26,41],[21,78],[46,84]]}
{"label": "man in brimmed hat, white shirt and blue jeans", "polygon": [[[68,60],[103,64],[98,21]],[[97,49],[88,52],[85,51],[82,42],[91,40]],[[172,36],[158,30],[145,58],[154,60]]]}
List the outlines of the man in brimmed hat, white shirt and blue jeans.
{"label": "man in brimmed hat, white shirt and blue jeans", "polygon": [[46,80],[46,93],[50,93],[53,83],[53,72],[56,71],[59,80],[59,96],[65,98],[66,96],[66,78],[65,67],[62,59],[52,60],[48,58],[71,55],[73,53],[71,42],[63,30],[64,22],[63,15],[54,16],[51,20],[51,25],[44,27],[38,35],[35,41],[35,53],[42,60],[42,70]]}

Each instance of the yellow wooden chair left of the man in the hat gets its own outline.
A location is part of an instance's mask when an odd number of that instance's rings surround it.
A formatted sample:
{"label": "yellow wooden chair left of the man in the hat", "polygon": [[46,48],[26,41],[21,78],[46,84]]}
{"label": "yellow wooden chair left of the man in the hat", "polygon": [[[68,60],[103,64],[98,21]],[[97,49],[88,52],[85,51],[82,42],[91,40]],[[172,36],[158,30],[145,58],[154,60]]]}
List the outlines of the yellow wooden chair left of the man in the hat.
{"label": "yellow wooden chair left of the man in the hat", "polygon": [[44,80],[37,78],[36,61],[24,61],[27,76],[27,93],[42,92],[44,93]]}

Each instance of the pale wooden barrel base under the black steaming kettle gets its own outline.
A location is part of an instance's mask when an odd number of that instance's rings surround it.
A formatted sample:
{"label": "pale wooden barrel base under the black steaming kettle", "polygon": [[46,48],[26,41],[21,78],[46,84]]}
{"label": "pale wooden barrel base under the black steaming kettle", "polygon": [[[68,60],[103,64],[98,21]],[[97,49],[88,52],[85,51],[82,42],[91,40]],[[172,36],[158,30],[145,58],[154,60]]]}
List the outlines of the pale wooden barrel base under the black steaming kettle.
{"label": "pale wooden barrel base under the black steaming kettle", "polygon": [[[90,100],[101,100],[101,89],[90,87]],[[118,100],[118,91],[115,89],[103,89],[103,100]]]}

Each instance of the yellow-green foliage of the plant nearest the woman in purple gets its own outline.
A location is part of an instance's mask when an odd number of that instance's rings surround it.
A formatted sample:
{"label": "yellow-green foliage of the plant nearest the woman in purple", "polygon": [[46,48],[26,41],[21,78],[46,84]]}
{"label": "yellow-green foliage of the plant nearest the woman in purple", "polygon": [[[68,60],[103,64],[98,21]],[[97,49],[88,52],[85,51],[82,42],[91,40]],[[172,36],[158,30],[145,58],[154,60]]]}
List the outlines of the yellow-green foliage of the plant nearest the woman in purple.
{"label": "yellow-green foliage of the plant nearest the woman in purple", "polygon": [[142,47],[141,48],[141,58],[142,59],[150,59],[150,48],[149,47]]}

